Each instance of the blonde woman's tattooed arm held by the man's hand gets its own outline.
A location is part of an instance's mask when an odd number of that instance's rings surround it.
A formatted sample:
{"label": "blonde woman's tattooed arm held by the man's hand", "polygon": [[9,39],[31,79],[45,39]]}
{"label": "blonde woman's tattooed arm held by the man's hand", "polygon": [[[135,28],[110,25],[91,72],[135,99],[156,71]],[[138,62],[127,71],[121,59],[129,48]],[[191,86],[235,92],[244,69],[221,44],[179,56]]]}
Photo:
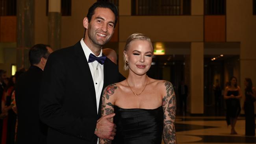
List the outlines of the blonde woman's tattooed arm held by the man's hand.
{"label": "blonde woman's tattooed arm held by the man's hand", "polygon": [[[101,116],[106,116],[108,114],[114,113],[114,98],[111,95],[114,94],[115,89],[117,89],[116,84],[108,85],[102,94],[102,104],[101,104]],[[113,122],[113,118],[109,119]],[[99,138],[100,144],[111,144],[111,140]]]}

